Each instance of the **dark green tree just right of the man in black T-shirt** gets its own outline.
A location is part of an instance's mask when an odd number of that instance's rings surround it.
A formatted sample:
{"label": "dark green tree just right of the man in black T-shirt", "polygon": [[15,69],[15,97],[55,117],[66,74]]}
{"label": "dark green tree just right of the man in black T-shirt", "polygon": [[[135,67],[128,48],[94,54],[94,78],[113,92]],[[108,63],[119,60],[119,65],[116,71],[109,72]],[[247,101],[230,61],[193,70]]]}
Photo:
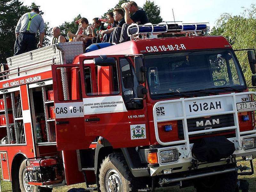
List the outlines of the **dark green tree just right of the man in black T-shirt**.
{"label": "dark green tree just right of the man in black T-shirt", "polygon": [[160,16],[160,7],[154,4],[149,0],[143,5],[143,9],[148,15],[148,21],[152,24],[158,24],[163,21],[162,17]]}

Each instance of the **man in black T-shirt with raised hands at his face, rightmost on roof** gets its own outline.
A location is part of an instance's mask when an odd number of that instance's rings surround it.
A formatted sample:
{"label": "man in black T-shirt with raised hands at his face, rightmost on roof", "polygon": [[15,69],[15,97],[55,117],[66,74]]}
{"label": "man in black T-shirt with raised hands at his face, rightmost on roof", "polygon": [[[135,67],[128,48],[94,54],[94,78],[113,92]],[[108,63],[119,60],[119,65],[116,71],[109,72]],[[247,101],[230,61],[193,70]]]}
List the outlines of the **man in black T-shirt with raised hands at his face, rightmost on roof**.
{"label": "man in black T-shirt with raised hands at his face, rightmost on roof", "polygon": [[[123,3],[121,5],[124,8],[124,20],[125,24],[122,26],[122,30],[116,28],[113,33],[113,43],[119,44],[125,41],[129,41],[130,37],[127,34],[127,28],[132,23],[137,23],[138,25],[144,25],[148,23],[148,16],[146,12],[138,7],[138,5],[134,1],[130,1],[128,3]],[[133,13],[132,16],[130,14]]]}

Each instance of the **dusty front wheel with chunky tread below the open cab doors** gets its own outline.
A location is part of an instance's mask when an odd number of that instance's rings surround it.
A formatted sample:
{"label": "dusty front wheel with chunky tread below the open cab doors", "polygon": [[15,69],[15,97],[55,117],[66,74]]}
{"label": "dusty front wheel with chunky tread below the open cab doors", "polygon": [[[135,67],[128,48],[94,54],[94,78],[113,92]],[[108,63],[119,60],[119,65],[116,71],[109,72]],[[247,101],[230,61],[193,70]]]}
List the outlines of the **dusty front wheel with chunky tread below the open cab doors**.
{"label": "dusty front wheel with chunky tread below the open cab doors", "polygon": [[138,191],[135,178],[121,153],[112,153],[103,160],[99,184],[101,192]]}

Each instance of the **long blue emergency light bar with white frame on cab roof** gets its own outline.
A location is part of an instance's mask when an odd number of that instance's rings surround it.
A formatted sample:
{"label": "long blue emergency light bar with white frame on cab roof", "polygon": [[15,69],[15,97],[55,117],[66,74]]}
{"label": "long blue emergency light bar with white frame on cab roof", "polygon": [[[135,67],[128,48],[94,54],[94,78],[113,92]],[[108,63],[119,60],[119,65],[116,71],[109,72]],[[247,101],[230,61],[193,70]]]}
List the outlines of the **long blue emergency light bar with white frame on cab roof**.
{"label": "long blue emergency light bar with white frame on cab roof", "polygon": [[162,22],[159,24],[147,23],[145,25],[130,25],[127,29],[129,36],[145,33],[166,33],[166,32],[201,32],[203,35],[210,29],[209,23],[182,23],[178,22]]}

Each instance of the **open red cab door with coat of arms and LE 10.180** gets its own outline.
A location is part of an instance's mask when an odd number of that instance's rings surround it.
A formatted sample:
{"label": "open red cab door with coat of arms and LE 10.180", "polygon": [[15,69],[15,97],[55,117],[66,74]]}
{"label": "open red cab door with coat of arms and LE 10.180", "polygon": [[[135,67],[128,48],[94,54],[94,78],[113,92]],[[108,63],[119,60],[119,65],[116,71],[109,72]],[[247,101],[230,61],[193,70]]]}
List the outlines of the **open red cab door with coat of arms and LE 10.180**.
{"label": "open red cab door with coat of arms and LE 10.180", "polygon": [[[114,148],[148,145],[145,100],[139,101],[138,108],[127,106],[127,97],[135,95],[133,90],[138,85],[134,84],[132,65],[128,60],[120,60],[115,56],[100,57],[97,56],[101,61],[97,58],[80,59],[81,71],[84,70],[81,81],[84,84],[82,93],[86,137],[102,136]],[[120,67],[120,62],[124,68]]]}

